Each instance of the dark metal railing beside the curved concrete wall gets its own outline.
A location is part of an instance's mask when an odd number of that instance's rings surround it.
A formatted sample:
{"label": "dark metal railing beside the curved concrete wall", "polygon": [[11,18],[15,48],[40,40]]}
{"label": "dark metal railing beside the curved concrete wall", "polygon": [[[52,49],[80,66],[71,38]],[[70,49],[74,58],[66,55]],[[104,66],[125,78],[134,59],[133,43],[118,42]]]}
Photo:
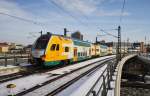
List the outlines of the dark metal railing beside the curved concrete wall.
{"label": "dark metal railing beside the curved concrete wall", "polygon": [[110,83],[113,80],[112,74],[114,73],[114,68],[115,62],[111,62],[110,64],[108,64],[107,68],[99,76],[99,78],[92,86],[92,88],[89,90],[86,96],[107,96],[108,90],[111,89]]}

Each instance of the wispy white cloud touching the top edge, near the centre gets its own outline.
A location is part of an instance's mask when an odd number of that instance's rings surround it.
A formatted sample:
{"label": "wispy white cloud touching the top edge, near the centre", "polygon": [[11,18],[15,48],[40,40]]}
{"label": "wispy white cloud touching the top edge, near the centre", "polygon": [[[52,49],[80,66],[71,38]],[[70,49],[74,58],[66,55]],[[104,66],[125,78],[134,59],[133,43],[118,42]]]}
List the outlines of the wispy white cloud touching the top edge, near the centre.
{"label": "wispy white cloud touching the top edge, near the centre", "polygon": [[59,6],[72,13],[91,14],[97,10],[97,4],[104,0],[53,0]]}

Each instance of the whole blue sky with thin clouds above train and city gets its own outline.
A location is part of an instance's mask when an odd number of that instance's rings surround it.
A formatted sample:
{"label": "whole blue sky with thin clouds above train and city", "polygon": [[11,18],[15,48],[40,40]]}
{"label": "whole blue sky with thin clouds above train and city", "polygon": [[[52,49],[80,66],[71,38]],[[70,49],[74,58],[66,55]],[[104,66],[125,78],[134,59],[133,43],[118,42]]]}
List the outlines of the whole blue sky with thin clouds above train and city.
{"label": "whole blue sky with thin clouds above train and city", "polygon": [[[0,42],[31,44],[39,31],[63,34],[65,27],[71,32],[79,30],[88,41],[95,41],[97,34],[105,34],[101,29],[116,35],[117,31],[111,29],[120,24],[122,3],[123,0],[0,0],[0,12],[38,23],[0,14]],[[145,36],[150,40],[149,4],[149,0],[126,0],[122,41],[144,41]],[[105,36],[99,40],[116,38]]]}

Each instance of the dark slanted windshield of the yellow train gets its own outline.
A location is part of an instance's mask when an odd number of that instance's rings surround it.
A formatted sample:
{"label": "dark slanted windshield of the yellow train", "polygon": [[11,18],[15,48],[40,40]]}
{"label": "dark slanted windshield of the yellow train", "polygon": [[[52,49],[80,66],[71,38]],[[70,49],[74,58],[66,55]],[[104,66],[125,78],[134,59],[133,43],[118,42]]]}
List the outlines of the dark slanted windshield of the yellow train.
{"label": "dark slanted windshield of the yellow train", "polygon": [[40,36],[37,39],[37,41],[35,42],[34,48],[35,49],[46,49],[50,37],[51,37],[51,35]]}

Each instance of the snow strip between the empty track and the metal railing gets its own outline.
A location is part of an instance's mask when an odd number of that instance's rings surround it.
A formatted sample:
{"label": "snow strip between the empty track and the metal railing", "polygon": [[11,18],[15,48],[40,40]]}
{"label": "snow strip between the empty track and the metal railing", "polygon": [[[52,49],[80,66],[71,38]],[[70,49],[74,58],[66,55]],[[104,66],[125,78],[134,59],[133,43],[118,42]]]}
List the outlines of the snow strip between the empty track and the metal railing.
{"label": "snow strip between the empty track and the metal railing", "polygon": [[[87,76],[85,78],[82,78],[81,80],[78,80],[77,82],[57,94],[57,96],[86,96],[87,92],[91,89],[91,87],[103,73],[106,67],[107,65],[104,65],[94,74],[90,75],[90,77]],[[101,85],[103,81],[102,78],[99,81],[99,84]]]}

